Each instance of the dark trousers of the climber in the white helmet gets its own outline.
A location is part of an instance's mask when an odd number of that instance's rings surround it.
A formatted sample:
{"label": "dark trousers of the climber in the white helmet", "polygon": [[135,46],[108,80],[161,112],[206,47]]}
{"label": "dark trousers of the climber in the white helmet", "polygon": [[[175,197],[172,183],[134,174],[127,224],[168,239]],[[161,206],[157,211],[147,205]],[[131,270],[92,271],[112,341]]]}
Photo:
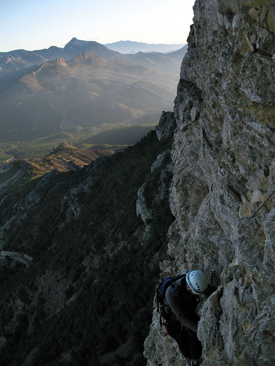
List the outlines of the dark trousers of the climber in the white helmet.
{"label": "dark trousers of the climber in the white helmet", "polygon": [[202,345],[198,340],[197,333],[186,327],[183,327],[181,330],[180,322],[176,321],[169,321],[166,327],[169,336],[175,339],[179,345],[180,352],[185,357],[198,359],[201,356]]}

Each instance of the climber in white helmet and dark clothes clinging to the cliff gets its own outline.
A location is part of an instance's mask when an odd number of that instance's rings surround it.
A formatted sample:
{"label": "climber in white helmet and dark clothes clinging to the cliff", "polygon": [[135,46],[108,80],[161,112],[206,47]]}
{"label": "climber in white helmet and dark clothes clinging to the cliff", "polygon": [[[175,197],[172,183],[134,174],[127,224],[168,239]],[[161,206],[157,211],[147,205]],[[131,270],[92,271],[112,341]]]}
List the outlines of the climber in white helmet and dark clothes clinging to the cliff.
{"label": "climber in white helmet and dark clothes clinging to the cliff", "polygon": [[205,293],[206,289],[210,295],[216,288],[208,285],[205,274],[200,270],[188,272],[186,277],[175,281],[175,284],[165,292],[164,310],[169,319],[166,321],[166,330],[179,345],[189,365],[198,365],[202,353],[202,345],[197,337],[198,295]]}

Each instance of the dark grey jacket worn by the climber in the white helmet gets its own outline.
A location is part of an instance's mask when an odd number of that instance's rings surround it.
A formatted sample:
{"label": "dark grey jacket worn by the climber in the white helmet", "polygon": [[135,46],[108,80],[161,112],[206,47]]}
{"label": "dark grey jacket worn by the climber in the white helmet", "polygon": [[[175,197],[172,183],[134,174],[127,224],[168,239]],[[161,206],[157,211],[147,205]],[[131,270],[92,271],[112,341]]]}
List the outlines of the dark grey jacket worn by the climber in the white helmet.
{"label": "dark grey jacket worn by the climber in the white helmet", "polygon": [[165,311],[170,315],[171,320],[179,321],[180,324],[197,333],[198,315],[195,310],[199,298],[187,291],[185,277],[175,283],[176,287],[173,289],[173,294],[171,286],[165,292]]}

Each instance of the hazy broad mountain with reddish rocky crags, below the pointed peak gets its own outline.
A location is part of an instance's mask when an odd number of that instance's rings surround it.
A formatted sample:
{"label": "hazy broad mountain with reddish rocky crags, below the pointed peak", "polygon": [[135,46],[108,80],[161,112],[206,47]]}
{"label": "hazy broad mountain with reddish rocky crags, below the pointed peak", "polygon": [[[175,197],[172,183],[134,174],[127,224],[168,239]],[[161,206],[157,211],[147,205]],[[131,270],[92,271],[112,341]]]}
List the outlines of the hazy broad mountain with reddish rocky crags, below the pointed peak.
{"label": "hazy broad mountain with reddish rocky crags, below the pointed peak", "polygon": [[176,83],[159,71],[85,52],[25,69],[2,81],[2,88],[0,138],[7,141],[73,126],[146,123],[173,108]]}

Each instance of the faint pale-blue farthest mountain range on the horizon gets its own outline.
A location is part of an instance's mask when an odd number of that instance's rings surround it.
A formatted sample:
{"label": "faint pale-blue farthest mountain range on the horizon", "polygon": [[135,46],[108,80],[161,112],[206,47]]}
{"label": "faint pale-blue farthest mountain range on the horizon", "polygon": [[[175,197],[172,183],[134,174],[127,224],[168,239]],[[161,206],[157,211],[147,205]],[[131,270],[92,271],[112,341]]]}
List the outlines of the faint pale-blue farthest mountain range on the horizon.
{"label": "faint pale-blue farthest mountain range on the horizon", "polygon": [[129,53],[137,53],[139,51],[142,52],[172,52],[180,49],[185,44],[148,44],[143,42],[132,42],[132,41],[119,41],[113,43],[106,43],[104,46],[107,48],[118,51],[120,53],[129,54]]}

